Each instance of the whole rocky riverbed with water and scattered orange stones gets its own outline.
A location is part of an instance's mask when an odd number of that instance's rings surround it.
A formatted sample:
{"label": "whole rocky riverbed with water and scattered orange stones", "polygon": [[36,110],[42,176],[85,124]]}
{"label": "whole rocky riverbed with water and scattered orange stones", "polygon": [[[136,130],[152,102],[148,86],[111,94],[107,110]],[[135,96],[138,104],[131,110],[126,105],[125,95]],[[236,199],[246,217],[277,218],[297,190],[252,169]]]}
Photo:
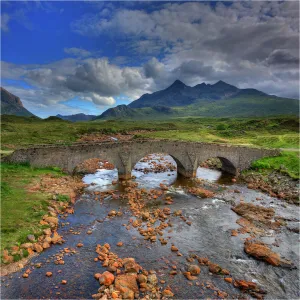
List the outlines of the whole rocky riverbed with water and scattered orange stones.
{"label": "whole rocky riverbed with water and scattered orange stones", "polygon": [[297,206],[216,170],[177,178],[164,155],[132,175],[86,175],[74,213],[59,218],[64,243],[2,277],[1,297],[299,298]]}

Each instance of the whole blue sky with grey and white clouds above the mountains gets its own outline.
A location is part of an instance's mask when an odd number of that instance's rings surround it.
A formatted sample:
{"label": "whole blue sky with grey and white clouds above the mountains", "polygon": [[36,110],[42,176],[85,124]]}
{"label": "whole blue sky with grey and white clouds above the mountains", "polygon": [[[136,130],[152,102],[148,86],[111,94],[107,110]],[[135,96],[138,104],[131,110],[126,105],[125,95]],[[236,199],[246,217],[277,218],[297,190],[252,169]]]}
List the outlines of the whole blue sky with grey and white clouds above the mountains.
{"label": "whole blue sky with grey and white clouds above the mountains", "polygon": [[99,115],[176,79],[299,99],[299,2],[1,1],[1,86]]}

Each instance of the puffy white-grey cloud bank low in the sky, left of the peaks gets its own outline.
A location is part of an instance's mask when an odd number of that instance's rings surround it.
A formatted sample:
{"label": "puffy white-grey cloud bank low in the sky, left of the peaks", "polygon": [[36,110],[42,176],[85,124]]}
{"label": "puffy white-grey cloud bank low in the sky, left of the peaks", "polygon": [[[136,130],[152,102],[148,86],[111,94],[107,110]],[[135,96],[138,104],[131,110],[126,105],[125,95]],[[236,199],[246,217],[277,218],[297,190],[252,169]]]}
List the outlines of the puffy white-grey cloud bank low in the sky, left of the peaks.
{"label": "puffy white-grey cloud bank low in the sky, left of the peaks", "polygon": [[143,68],[119,67],[106,58],[63,59],[50,64],[17,65],[1,62],[2,78],[23,80],[33,88],[16,88],[31,106],[53,106],[77,97],[98,107],[115,104],[120,94],[131,99],[151,91],[152,79]]}

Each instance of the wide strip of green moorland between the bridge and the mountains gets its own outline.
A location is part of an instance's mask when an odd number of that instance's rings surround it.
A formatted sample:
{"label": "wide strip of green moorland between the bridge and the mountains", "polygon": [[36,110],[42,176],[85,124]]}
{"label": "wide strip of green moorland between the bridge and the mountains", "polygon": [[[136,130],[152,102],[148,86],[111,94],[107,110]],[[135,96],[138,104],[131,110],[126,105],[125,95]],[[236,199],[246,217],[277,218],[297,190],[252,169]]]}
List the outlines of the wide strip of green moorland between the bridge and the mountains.
{"label": "wide strip of green moorland between the bridge and the mountains", "polygon": [[[83,134],[137,133],[141,138],[228,143],[271,148],[299,148],[297,117],[274,118],[177,118],[165,121],[107,120],[71,123],[49,119],[2,117],[2,151],[30,144],[70,144]],[[51,128],[51,130],[49,130]]]}

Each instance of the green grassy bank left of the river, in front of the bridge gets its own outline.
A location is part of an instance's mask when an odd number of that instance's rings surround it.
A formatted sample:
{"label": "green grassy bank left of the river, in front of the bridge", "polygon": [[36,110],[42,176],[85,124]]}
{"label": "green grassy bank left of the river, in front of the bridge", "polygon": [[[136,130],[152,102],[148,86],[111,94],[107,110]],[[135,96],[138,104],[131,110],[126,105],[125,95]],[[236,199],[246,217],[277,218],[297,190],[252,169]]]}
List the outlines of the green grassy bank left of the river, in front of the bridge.
{"label": "green grassy bank left of the river, in front of the bridge", "polygon": [[1,164],[1,250],[26,242],[28,234],[39,236],[46,228],[39,222],[47,213],[49,196],[26,189],[28,183],[38,182],[44,174],[63,175],[49,168]]}

